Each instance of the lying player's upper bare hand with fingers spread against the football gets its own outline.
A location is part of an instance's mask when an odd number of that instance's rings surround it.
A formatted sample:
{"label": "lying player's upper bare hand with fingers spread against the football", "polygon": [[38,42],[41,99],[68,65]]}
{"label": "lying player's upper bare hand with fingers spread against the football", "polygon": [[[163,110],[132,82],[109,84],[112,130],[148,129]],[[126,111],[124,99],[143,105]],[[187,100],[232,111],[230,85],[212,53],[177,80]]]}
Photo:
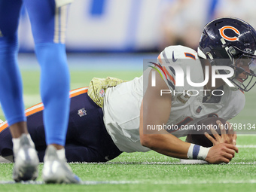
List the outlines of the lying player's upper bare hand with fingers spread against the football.
{"label": "lying player's upper bare hand with fingers spread against the football", "polygon": [[[228,122],[226,122],[225,126],[221,123],[220,120],[217,120],[216,123],[218,124],[220,130],[221,130],[221,136],[218,135],[216,130],[213,128],[211,129],[212,135],[215,137],[215,139],[209,135],[209,133],[205,133],[205,136],[207,139],[209,139],[213,145],[218,145],[220,143],[228,143],[232,145],[236,145],[236,132],[233,131],[232,125]],[[226,132],[227,129],[227,132]]]}

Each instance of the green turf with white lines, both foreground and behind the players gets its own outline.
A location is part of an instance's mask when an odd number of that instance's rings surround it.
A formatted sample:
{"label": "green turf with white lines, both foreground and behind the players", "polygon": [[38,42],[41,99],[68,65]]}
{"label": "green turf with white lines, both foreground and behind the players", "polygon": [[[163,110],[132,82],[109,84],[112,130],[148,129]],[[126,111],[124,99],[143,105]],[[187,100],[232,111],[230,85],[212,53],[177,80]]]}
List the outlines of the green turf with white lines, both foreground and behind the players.
{"label": "green turf with white lines, both foreground and behind the players", "polygon": [[[93,77],[113,76],[125,80],[142,74],[140,70],[95,71],[71,67],[72,89],[87,86]],[[26,108],[41,102],[38,69],[22,69]],[[254,90],[246,94],[245,109],[233,123],[256,123]],[[2,111],[1,111],[2,113]],[[1,114],[2,116],[2,114]],[[3,116],[2,116],[3,119]],[[14,184],[12,163],[0,164],[0,191],[255,191],[256,135],[239,135],[239,154],[230,164],[181,165],[179,160],[157,154],[123,153],[108,163],[71,163],[81,185],[43,184],[37,181]],[[39,166],[40,172],[43,165]]]}

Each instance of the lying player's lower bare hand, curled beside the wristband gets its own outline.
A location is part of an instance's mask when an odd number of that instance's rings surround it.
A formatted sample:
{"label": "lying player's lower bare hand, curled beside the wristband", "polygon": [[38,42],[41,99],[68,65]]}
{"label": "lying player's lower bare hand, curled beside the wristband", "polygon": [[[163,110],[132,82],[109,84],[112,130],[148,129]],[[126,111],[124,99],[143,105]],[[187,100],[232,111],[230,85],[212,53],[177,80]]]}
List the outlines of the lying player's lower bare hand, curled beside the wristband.
{"label": "lying player's lower bare hand, curled beside the wristband", "polygon": [[235,145],[227,143],[218,143],[210,148],[206,161],[209,163],[230,163],[238,148]]}

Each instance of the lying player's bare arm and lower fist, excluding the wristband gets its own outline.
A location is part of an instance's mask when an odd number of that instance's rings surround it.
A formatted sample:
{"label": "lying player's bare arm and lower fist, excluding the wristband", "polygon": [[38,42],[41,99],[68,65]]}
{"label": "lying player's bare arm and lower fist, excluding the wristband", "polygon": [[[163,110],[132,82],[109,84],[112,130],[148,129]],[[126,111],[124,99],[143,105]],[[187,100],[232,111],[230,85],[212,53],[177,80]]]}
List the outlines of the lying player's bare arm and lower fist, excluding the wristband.
{"label": "lying player's bare arm and lower fist, excluding the wristband", "polygon": [[[149,75],[148,82],[151,82],[151,75]],[[160,154],[187,159],[187,152],[189,149],[191,151],[190,143],[181,141],[166,130],[148,130],[148,125],[163,125],[169,119],[172,95],[163,94],[163,96],[160,96],[160,90],[168,89],[165,82],[156,72],[156,87],[151,87],[151,84],[148,85],[141,106],[139,130],[141,143],[143,146],[151,148]],[[229,144],[220,144],[215,145],[208,151],[205,160],[209,163],[228,163],[234,157],[237,148]]]}

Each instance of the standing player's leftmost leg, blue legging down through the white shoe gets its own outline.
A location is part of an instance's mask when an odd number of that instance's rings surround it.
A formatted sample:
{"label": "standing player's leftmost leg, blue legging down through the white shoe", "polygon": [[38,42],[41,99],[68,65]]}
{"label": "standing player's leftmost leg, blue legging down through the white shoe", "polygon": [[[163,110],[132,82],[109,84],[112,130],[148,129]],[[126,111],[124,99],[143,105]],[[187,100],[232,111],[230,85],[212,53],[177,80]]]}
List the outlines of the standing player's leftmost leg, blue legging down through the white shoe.
{"label": "standing player's leftmost leg, blue legging down through the white shoe", "polygon": [[[22,80],[17,65],[17,27],[21,5],[19,0],[0,0],[0,101],[14,142],[15,181],[35,179],[38,175],[38,157],[26,129]],[[28,150],[33,152],[24,160],[21,155]]]}

